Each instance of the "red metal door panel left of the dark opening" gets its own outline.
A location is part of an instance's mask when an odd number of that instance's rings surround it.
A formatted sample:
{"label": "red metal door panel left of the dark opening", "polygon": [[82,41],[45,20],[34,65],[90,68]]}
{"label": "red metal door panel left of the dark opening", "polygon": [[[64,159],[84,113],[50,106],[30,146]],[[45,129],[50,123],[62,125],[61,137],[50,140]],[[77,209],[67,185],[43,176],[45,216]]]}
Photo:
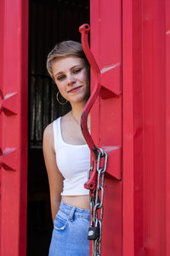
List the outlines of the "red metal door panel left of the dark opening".
{"label": "red metal door panel left of the dark opening", "polygon": [[0,1],[0,255],[26,255],[28,1]]}

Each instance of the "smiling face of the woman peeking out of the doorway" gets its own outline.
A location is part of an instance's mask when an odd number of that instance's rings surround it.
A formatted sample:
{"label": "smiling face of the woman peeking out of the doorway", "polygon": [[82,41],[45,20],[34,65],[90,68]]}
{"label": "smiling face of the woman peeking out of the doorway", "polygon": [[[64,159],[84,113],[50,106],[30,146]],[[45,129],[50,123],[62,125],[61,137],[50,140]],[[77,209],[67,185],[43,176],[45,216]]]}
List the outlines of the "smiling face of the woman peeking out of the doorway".
{"label": "smiling face of the woman peeking out of the doorway", "polygon": [[88,67],[82,58],[59,57],[53,61],[54,81],[60,94],[71,103],[86,103],[90,93]]}

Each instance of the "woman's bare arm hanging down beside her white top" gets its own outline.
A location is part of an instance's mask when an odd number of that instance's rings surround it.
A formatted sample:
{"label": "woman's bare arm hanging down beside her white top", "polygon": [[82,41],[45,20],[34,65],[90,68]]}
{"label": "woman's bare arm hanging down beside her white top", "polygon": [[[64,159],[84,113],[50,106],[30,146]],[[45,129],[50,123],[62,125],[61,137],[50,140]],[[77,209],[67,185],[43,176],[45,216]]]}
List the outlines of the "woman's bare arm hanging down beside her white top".
{"label": "woman's bare arm hanging down beside her white top", "polygon": [[59,172],[56,165],[54,151],[54,132],[53,123],[48,125],[43,132],[43,156],[48,172],[48,183],[50,190],[51,212],[54,221],[56,213],[59,211],[59,203],[61,201],[61,192],[63,190],[63,176]]}

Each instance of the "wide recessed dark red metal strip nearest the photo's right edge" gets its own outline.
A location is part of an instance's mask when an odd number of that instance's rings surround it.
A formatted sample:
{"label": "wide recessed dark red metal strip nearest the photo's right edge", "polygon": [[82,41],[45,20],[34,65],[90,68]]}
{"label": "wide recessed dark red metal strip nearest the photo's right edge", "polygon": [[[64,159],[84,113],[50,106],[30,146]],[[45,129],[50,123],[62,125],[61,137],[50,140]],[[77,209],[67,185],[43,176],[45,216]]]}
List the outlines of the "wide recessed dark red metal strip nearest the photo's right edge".
{"label": "wide recessed dark red metal strip nearest the photo's right edge", "polygon": [[165,3],[144,1],[143,4],[144,252],[150,256],[168,255]]}

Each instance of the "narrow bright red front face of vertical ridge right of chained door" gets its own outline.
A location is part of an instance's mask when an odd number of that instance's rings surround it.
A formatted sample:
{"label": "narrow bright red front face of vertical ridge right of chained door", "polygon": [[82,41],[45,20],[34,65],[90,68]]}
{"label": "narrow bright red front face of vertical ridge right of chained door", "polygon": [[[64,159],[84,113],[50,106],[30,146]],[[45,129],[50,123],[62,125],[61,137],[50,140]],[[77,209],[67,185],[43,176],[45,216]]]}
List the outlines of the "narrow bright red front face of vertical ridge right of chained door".
{"label": "narrow bright red front face of vertical ridge right of chained door", "polygon": [[122,255],[134,256],[133,198],[133,3],[122,1]]}

